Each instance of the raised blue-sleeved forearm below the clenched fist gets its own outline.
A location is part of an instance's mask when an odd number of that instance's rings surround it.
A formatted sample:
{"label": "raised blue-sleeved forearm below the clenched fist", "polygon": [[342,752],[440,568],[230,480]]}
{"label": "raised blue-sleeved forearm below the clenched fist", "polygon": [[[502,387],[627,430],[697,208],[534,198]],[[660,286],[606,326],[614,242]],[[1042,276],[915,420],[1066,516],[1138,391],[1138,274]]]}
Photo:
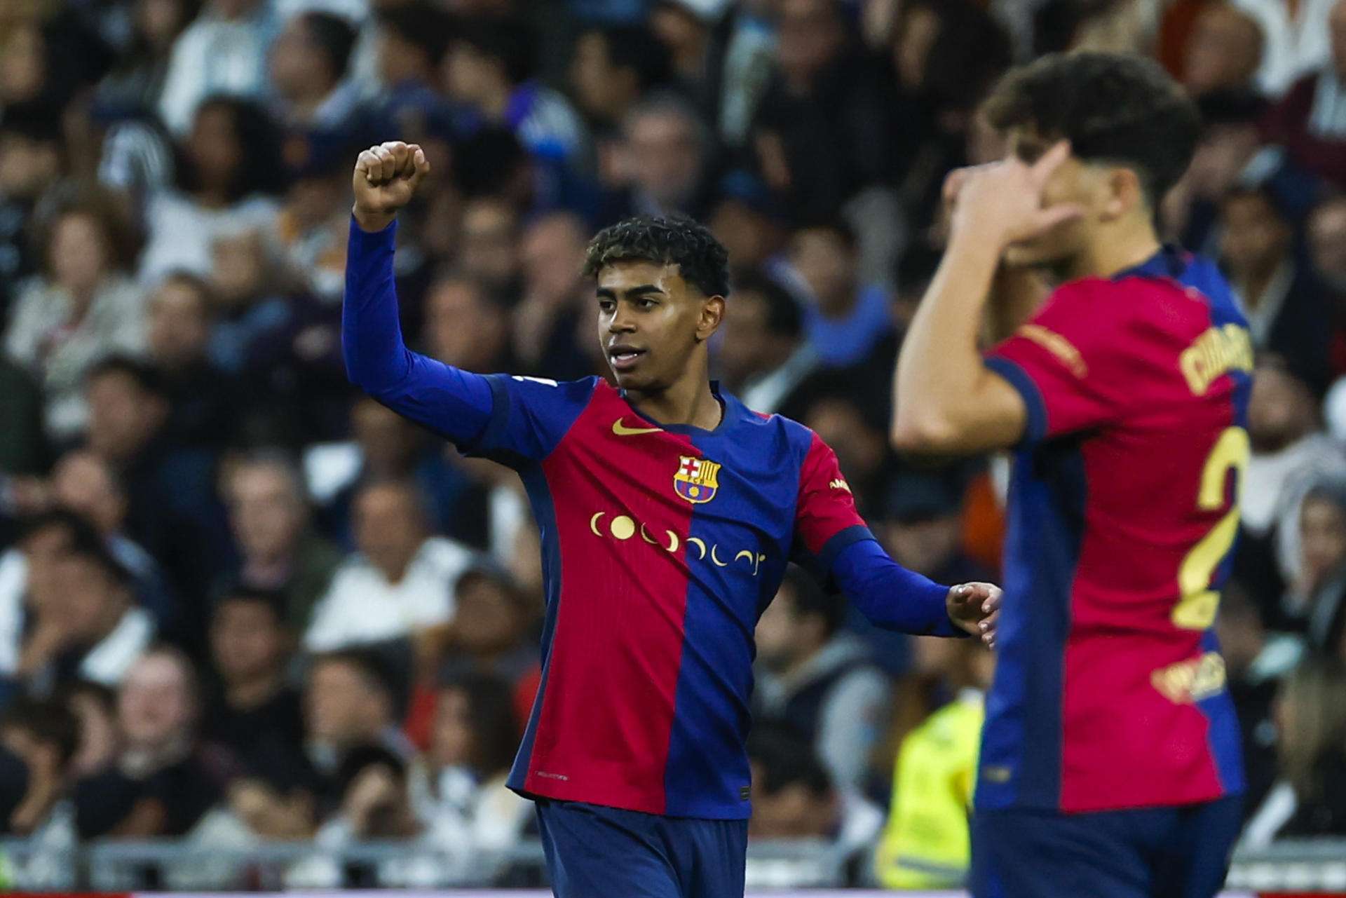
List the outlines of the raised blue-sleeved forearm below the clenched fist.
{"label": "raised blue-sleeved forearm below the clenched fist", "polygon": [[463,443],[482,434],[494,400],[485,377],[406,349],[393,280],[394,225],[350,225],[342,351],[350,381],[401,415]]}

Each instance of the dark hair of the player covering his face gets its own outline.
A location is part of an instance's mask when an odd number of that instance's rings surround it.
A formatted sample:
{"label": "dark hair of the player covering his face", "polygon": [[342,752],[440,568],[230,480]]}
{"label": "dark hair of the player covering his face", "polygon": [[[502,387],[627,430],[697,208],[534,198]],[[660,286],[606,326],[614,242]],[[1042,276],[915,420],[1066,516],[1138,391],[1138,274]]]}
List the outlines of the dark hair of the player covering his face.
{"label": "dark hair of the player covering his face", "polygon": [[1042,57],[1007,74],[983,110],[1000,131],[1065,137],[1079,159],[1133,168],[1152,207],[1182,178],[1201,136],[1197,105],[1158,62],[1116,53]]}

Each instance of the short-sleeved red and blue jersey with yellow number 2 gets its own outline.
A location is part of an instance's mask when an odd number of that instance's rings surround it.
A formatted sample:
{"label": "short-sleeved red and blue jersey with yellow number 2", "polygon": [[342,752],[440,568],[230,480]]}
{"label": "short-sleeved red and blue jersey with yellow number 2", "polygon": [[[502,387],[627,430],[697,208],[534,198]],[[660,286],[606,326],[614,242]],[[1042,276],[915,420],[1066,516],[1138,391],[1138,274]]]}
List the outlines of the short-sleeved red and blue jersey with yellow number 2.
{"label": "short-sleeved red and blue jersey with yellow number 2", "polygon": [[1163,250],[1062,285],[989,354],[1028,409],[976,801],[1066,812],[1242,790],[1211,623],[1238,529],[1248,323]]}

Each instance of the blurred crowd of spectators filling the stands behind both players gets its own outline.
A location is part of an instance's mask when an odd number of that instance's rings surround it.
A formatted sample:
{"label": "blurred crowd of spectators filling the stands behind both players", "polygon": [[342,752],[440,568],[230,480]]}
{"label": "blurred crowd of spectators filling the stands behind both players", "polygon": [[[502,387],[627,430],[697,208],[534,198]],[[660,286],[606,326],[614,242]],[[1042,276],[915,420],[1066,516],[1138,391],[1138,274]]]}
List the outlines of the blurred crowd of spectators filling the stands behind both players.
{"label": "blurred crowd of spectators filling the stands behind both players", "polygon": [[[944,176],[1001,155],[980,98],[1070,48],[1154,55],[1201,108],[1160,221],[1259,351],[1218,621],[1245,843],[1346,835],[1346,0],[0,4],[0,833],[312,840],[299,885],[447,875],[346,844],[530,835],[503,786],[540,677],[520,483],[345,377],[371,143],[433,166],[398,232],[411,345],[603,374],[588,236],[696,217],[734,268],[716,376],[836,448],[896,560],[996,579],[1005,460],[895,458],[891,370]],[[752,836],[956,882],[993,657],[797,574],[758,640]]]}

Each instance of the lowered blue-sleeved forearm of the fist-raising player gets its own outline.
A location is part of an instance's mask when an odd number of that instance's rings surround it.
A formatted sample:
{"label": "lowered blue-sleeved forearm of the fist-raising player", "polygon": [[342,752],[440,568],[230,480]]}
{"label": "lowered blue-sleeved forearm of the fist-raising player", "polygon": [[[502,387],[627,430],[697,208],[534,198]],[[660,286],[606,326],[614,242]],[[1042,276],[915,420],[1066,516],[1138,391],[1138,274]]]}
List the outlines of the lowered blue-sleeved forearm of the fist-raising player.
{"label": "lowered blue-sleeved forearm of the fist-raising player", "polygon": [[832,579],[875,626],[918,635],[964,635],[949,619],[949,587],[909,571],[874,540],[844,548]]}

